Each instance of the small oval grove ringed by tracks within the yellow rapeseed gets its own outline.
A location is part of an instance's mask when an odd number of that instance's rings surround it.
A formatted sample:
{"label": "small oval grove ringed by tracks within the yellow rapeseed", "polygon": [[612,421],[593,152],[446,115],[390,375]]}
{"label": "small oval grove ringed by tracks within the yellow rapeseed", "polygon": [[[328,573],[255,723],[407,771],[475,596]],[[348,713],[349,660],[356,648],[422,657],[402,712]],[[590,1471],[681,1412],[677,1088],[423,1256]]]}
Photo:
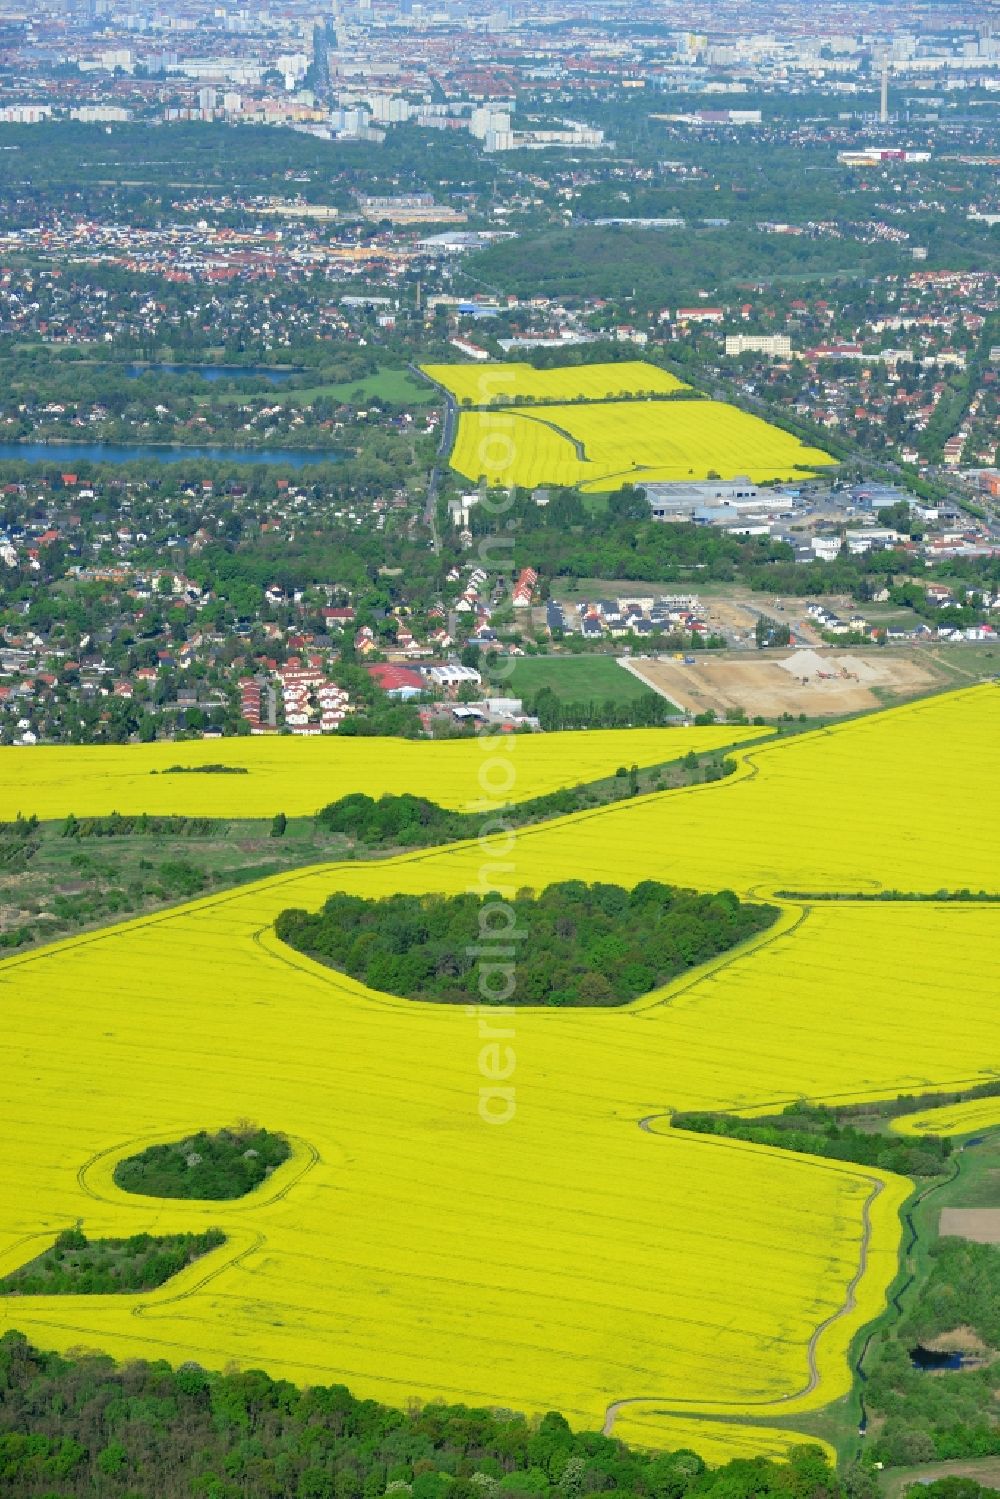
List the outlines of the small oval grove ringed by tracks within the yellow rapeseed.
{"label": "small oval grove ringed by tracks within the yellow rapeseed", "polygon": [[252,1124],[208,1135],[199,1130],[169,1145],[148,1145],[114,1168],[114,1184],[147,1198],[225,1201],[253,1192],[288,1160],[283,1135]]}

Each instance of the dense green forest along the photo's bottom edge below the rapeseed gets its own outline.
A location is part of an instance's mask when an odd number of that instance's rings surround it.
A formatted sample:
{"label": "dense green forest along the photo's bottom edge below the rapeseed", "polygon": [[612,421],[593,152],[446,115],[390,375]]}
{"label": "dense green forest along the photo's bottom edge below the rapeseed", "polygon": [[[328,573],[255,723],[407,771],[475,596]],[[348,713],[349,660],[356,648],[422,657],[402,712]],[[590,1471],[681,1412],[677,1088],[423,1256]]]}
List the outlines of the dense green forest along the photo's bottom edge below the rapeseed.
{"label": "dense green forest along the photo's bottom edge below the rapeseed", "polygon": [[261,1370],[66,1360],[19,1333],[0,1339],[0,1475],[12,1499],[871,1499],[817,1447],[709,1471],[687,1450],[574,1433],[555,1412],[403,1414]]}

